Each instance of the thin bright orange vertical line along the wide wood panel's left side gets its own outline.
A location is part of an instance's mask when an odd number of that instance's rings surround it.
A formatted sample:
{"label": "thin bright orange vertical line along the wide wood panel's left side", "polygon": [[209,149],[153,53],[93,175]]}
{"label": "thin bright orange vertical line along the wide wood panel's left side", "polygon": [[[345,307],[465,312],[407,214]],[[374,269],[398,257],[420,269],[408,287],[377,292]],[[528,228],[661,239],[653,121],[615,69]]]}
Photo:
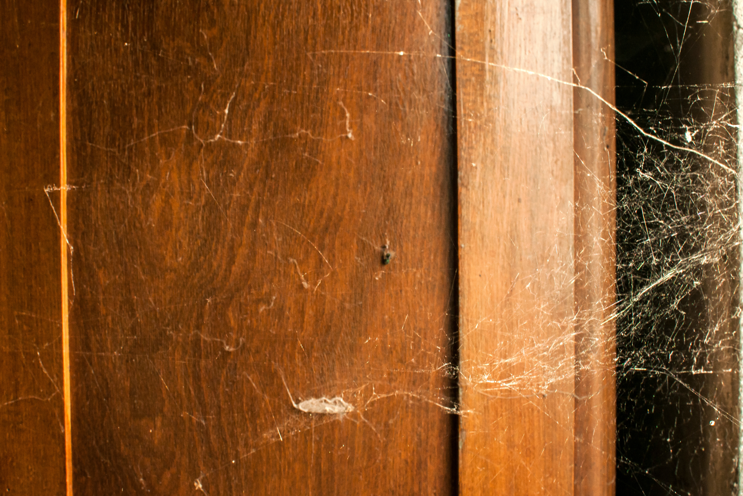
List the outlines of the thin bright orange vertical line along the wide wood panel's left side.
{"label": "thin bright orange vertical line along the wide wood panel's left side", "polygon": [[59,236],[62,267],[62,373],[65,394],[65,482],[72,496],[72,408],[67,240],[67,0],[59,0]]}

